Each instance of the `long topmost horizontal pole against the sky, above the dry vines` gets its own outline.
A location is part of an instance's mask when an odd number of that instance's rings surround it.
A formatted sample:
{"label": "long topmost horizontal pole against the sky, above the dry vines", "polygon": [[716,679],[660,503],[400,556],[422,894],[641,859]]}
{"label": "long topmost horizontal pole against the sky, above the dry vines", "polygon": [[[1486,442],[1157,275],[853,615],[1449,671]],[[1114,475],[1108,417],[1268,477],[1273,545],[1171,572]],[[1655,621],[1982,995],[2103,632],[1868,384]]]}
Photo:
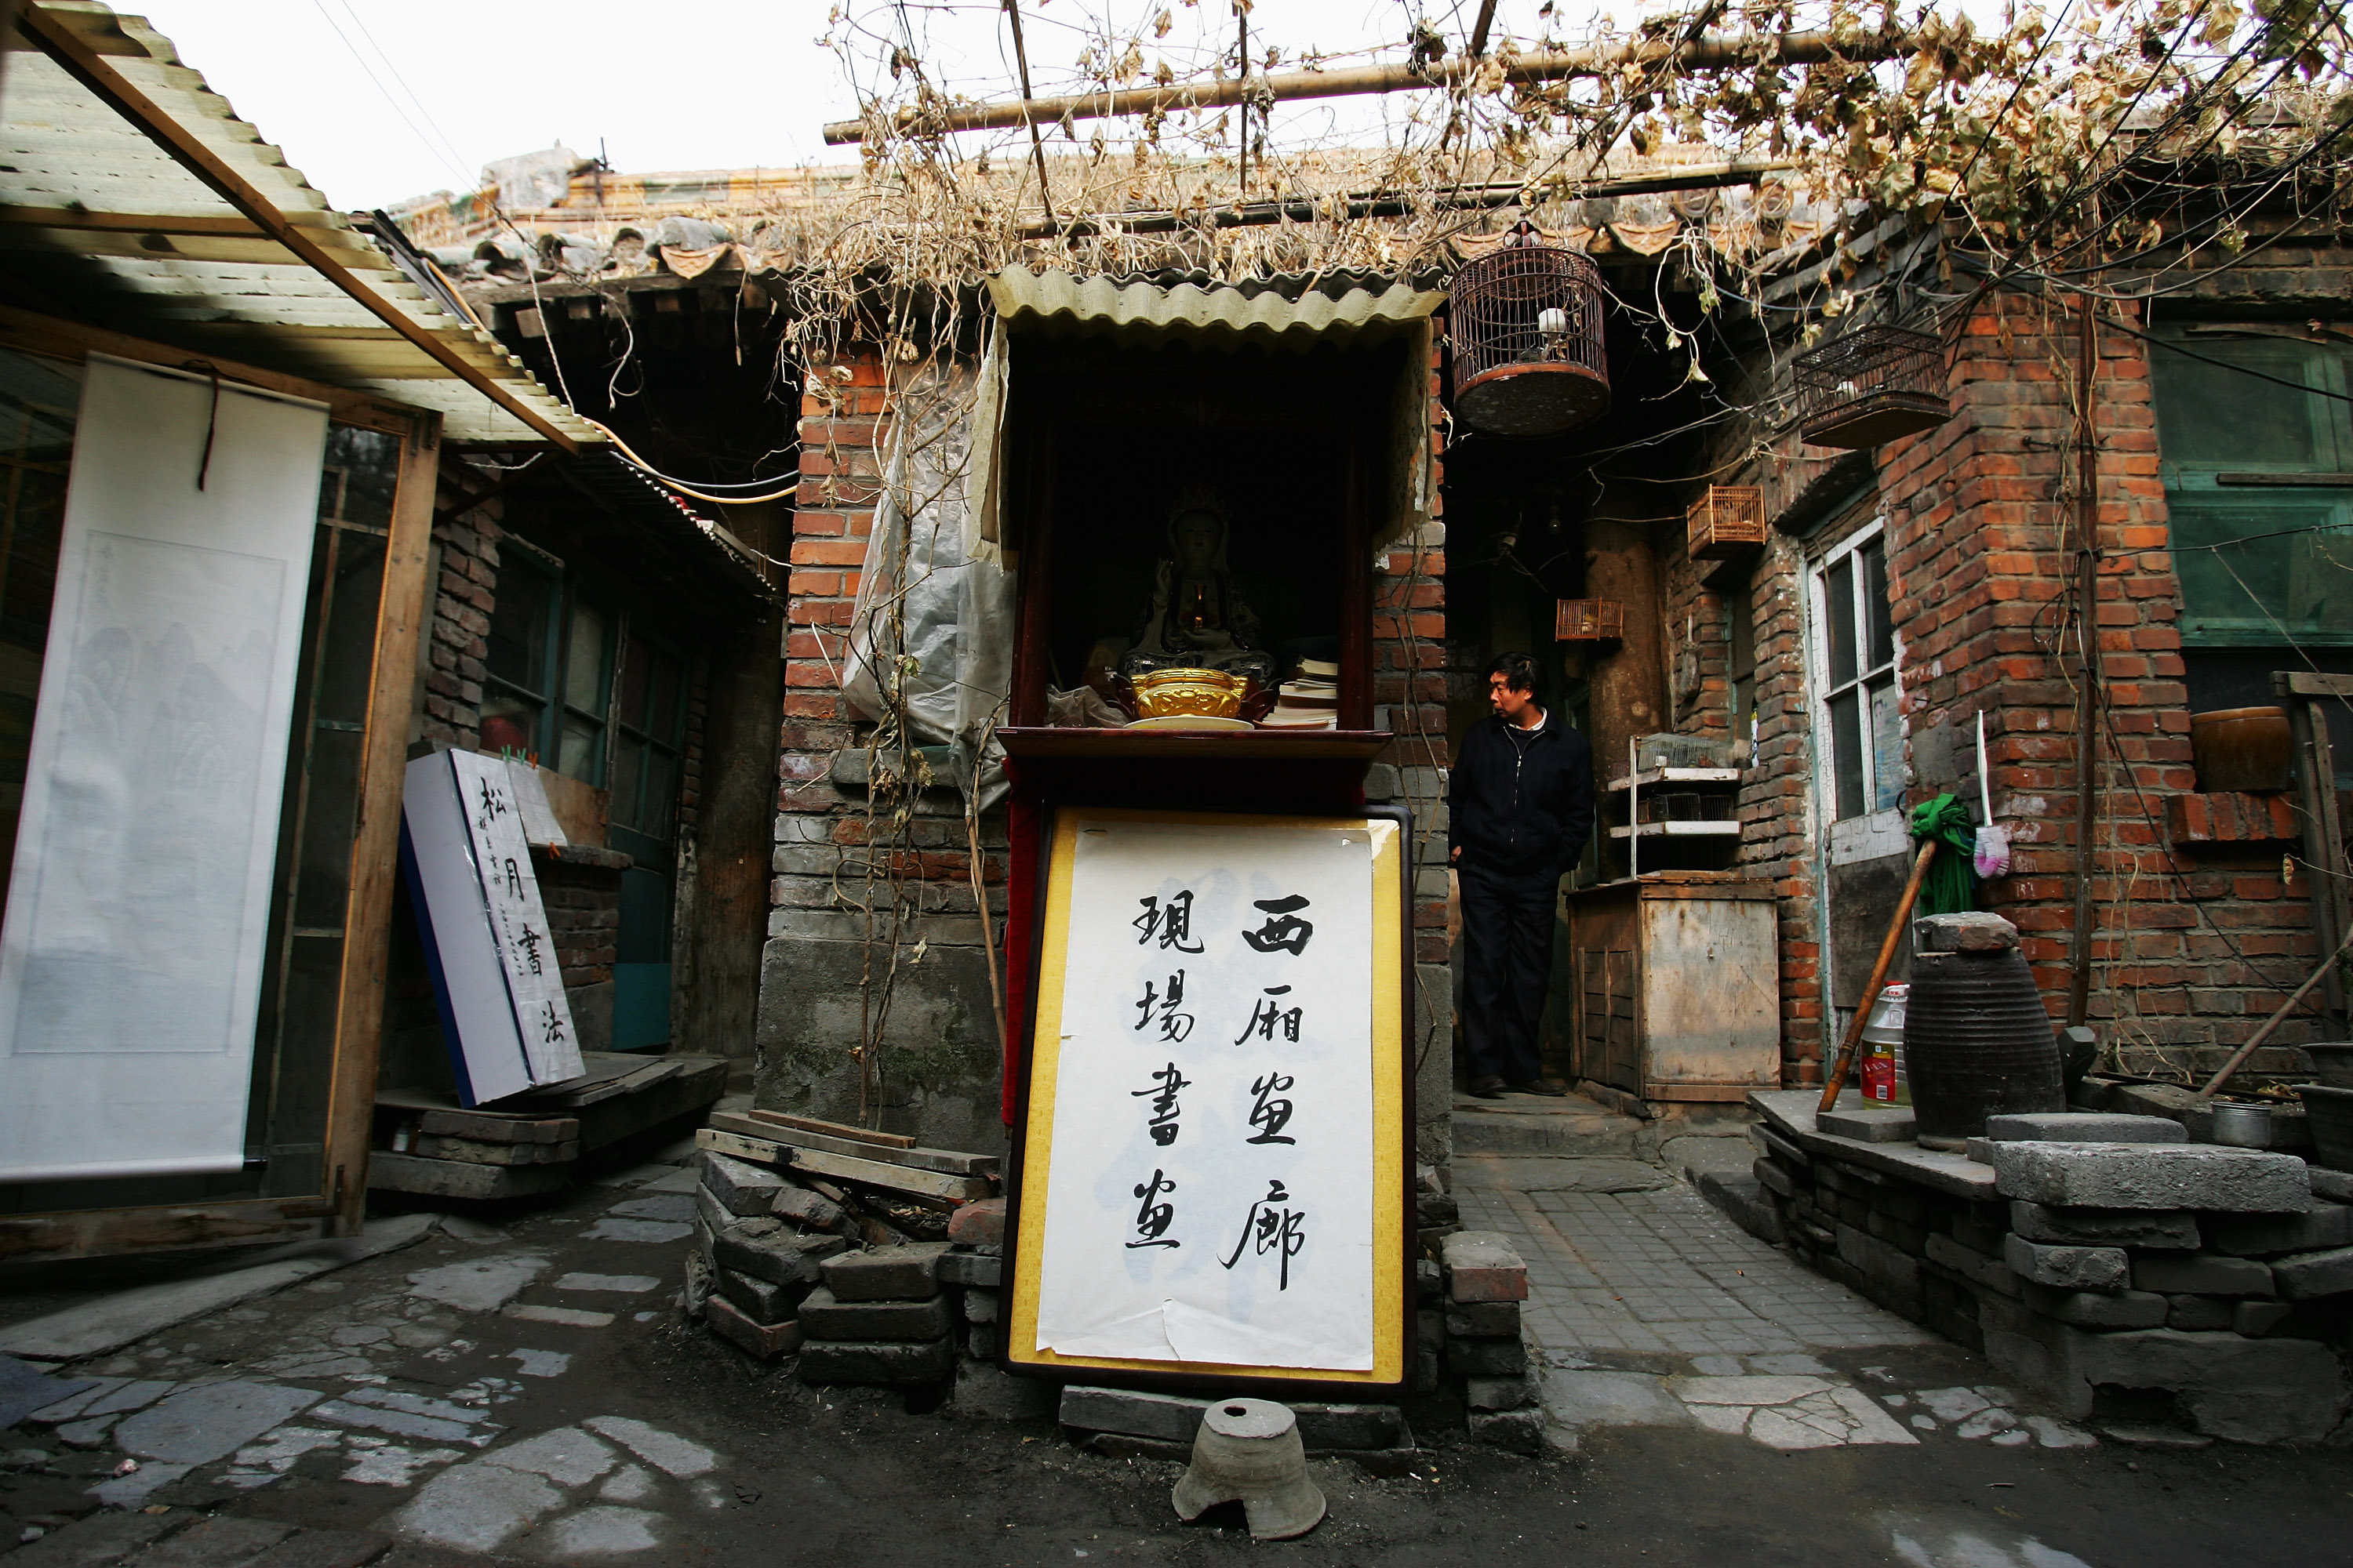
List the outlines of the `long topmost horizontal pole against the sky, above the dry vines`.
{"label": "long topmost horizontal pole against the sky, above the dry vines", "polygon": [[[1619,49],[1553,49],[1518,54],[1504,66],[1511,85],[1565,82],[1574,78],[1617,75],[1626,66],[1673,66],[1678,71],[1739,71],[1746,66],[1817,66],[1826,61],[1871,63],[1913,52],[1901,33],[1833,38],[1831,33],[1791,33],[1788,38],[1699,38],[1692,42],[1657,40]],[[1226,78],[1221,82],[1179,82],[1172,87],[1132,87],[1125,92],[1087,92],[1061,99],[1012,99],[951,110],[899,110],[896,127],[918,134],[1000,132],[1021,125],[1061,125],[1075,120],[1113,120],[1120,115],[1176,115],[1191,108],[1231,108],[1275,99],[1351,99],[1379,92],[1459,89],[1475,61],[1447,61],[1438,68],[1358,66],[1353,71],[1294,71],[1285,75]],[[866,139],[864,120],[835,120],[826,141],[842,146]]]}

